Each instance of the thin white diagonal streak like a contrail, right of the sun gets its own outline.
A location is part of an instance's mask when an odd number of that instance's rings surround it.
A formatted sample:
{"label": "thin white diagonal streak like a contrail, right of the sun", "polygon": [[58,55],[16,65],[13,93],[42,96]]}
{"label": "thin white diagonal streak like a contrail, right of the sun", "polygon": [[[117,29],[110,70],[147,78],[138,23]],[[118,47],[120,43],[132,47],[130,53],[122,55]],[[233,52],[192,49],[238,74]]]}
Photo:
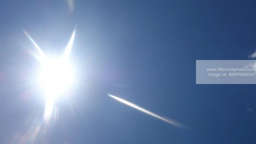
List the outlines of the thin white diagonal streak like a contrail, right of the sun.
{"label": "thin white diagonal streak like a contrail, right of the sun", "polygon": [[158,119],[160,119],[160,120],[162,120],[162,121],[165,121],[165,122],[167,122],[167,123],[169,123],[169,124],[172,124],[172,125],[174,125],[174,126],[176,126],[176,127],[179,127],[179,128],[181,128],[181,129],[187,129],[187,128],[188,128],[188,127],[184,126],[183,124],[178,123],[177,121],[171,120],[171,119],[169,119],[169,118],[164,118],[164,117],[162,117],[162,116],[160,116],[160,115],[157,115],[157,114],[155,114],[155,113],[153,113],[153,112],[148,111],[147,109],[144,109],[144,108],[142,108],[142,107],[140,107],[140,106],[137,106],[136,104],[133,104],[133,103],[131,103],[131,102],[129,102],[129,101],[125,101],[125,100],[123,100],[122,98],[118,98],[118,97],[113,96],[113,95],[108,95],[108,96],[110,96],[111,98],[114,98],[116,101],[120,101],[120,102],[123,103],[123,104],[126,104],[126,105],[128,105],[128,106],[130,106],[130,107],[133,107],[134,109],[138,109],[138,110],[140,110],[141,112],[144,112],[144,113],[146,113],[146,114],[148,114],[148,115],[151,115],[151,116],[153,116],[153,117],[155,117],[155,118],[158,118]]}

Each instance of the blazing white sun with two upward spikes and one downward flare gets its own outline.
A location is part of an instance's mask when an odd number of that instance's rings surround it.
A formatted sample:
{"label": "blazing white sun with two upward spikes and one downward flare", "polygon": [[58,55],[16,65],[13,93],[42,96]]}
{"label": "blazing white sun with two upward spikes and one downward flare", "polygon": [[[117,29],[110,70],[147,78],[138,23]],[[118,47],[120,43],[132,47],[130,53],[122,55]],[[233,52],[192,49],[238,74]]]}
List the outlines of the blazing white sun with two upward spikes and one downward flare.
{"label": "blazing white sun with two upward spikes and one downward flare", "polygon": [[35,48],[38,50],[40,55],[37,59],[41,62],[40,74],[38,81],[43,87],[46,104],[44,109],[44,119],[46,122],[49,121],[54,108],[55,99],[60,97],[67,88],[73,83],[73,69],[68,60],[76,30],[73,31],[69,43],[64,50],[61,58],[49,58],[47,57],[37,43],[30,37],[30,35],[24,30],[24,33],[33,43]]}

